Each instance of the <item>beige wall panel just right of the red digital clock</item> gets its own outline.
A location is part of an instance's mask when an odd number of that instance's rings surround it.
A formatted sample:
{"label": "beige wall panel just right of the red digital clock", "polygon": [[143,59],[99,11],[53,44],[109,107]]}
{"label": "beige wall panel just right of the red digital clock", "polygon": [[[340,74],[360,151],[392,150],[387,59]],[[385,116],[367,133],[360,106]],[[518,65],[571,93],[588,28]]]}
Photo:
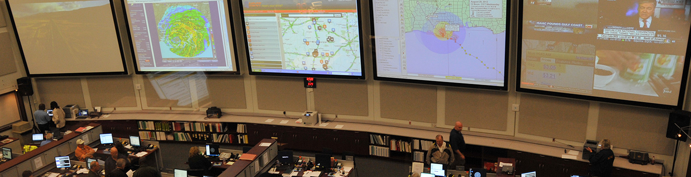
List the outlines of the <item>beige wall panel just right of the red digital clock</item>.
{"label": "beige wall panel just right of the red digital clock", "polygon": [[326,114],[368,116],[367,82],[319,79],[314,88],[314,110]]}

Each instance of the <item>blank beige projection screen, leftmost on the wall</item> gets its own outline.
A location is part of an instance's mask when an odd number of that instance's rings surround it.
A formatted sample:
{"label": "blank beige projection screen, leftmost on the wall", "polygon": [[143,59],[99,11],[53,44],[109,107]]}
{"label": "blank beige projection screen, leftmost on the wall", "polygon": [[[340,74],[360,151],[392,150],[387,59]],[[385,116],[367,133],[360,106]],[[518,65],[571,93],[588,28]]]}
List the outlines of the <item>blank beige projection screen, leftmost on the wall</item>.
{"label": "blank beige projection screen, leftmost on the wall", "polygon": [[28,76],[127,74],[111,1],[6,3]]}

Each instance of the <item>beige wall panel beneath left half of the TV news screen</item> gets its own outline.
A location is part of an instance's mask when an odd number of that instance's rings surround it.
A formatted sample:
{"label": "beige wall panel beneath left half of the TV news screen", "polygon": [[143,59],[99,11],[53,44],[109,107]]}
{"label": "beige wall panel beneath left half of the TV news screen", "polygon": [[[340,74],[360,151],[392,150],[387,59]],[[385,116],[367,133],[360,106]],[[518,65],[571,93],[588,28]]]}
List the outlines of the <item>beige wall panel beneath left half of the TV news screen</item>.
{"label": "beige wall panel beneath left half of the TV news screen", "polygon": [[587,101],[521,94],[518,132],[585,142],[589,107]]}

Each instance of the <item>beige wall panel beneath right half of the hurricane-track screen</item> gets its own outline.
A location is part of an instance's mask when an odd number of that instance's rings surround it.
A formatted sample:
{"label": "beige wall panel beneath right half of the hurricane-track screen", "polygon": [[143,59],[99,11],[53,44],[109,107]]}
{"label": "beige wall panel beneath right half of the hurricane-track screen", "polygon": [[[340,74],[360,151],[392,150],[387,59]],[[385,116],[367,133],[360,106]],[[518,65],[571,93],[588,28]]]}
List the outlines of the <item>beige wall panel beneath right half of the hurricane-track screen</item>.
{"label": "beige wall panel beneath right half of the hurricane-track screen", "polygon": [[509,92],[446,88],[446,125],[507,130]]}

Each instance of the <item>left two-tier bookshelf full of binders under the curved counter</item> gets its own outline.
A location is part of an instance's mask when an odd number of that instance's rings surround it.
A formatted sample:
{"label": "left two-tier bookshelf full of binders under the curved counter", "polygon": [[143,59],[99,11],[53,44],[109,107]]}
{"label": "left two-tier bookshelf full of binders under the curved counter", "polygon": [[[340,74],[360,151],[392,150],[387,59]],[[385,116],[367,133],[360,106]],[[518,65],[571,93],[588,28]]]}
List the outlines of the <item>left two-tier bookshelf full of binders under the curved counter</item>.
{"label": "left two-tier bookshelf full of binders under the curved counter", "polygon": [[137,121],[137,127],[142,140],[227,144],[249,143],[247,125],[241,123]]}

